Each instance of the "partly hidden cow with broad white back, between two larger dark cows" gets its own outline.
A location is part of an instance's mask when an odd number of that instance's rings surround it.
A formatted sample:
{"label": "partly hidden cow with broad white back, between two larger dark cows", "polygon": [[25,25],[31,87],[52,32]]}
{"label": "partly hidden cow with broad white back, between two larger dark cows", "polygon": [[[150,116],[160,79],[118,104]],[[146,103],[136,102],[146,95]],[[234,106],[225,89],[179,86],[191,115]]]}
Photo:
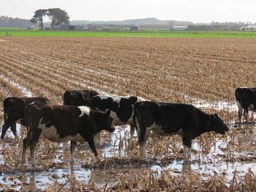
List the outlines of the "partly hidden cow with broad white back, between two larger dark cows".
{"label": "partly hidden cow with broad white back, between two larger dark cows", "polygon": [[94,96],[91,102],[92,108],[97,108],[101,111],[110,110],[113,116],[114,125],[130,124],[131,136],[133,138],[135,132],[135,121],[133,118],[133,107],[136,102],[146,101],[142,97],[134,96],[114,96],[114,95],[97,95]]}

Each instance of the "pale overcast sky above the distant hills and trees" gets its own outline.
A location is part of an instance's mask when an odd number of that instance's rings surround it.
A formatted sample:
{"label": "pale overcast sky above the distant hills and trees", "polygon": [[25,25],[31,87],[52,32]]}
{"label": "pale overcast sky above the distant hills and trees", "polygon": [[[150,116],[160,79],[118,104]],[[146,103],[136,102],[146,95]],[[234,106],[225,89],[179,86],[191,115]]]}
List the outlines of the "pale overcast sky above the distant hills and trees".
{"label": "pale overcast sky above the distant hills and trees", "polygon": [[255,0],[0,0],[0,15],[30,19],[36,9],[60,8],[70,20],[160,20],[256,22]]}

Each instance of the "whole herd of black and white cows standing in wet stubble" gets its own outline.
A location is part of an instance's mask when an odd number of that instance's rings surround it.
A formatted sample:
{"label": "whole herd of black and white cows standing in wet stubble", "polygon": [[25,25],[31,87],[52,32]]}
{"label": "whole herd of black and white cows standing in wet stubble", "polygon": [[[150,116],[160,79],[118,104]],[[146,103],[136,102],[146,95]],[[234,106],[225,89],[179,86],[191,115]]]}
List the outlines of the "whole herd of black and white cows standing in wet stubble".
{"label": "whole herd of black and white cows standing in wet stubble", "polygon": [[[248,110],[256,111],[256,89],[237,88],[236,100],[241,122],[248,121]],[[63,105],[52,105],[41,97],[8,97],[4,100],[4,124],[1,138],[9,127],[16,136],[16,122],[27,126],[23,140],[22,162],[30,148],[31,164],[35,166],[35,146],[40,136],[54,141],[71,141],[71,163],[77,141],[87,141],[98,161],[96,144],[102,130],[114,132],[117,125],[130,124],[133,138],[137,130],[140,158],[146,158],[146,140],[151,131],[160,135],[182,136],[183,152],[190,158],[192,139],[206,132],[224,134],[227,125],[217,114],[206,114],[190,104],[156,102],[134,96],[100,95],[95,91],[68,90],[63,95]]]}

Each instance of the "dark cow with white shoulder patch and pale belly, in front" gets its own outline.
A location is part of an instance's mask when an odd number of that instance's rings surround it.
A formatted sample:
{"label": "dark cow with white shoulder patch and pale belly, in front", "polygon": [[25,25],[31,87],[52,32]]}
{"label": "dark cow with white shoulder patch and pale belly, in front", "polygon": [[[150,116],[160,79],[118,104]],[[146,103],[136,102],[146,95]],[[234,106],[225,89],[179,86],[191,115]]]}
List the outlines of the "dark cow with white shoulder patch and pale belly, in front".
{"label": "dark cow with white shoulder patch and pale belly, in front", "polygon": [[89,143],[97,160],[94,136],[101,130],[114,132],[111,112],[90,109],[88,106],[31,105],[28,110],[29,131],[23,140],[22,163],[26,161],[26,151],[30,147],[31,163],[35,166],[35,146],[44,136],[53,142],[71,141],[71,163],[74,162],[76,142]]}

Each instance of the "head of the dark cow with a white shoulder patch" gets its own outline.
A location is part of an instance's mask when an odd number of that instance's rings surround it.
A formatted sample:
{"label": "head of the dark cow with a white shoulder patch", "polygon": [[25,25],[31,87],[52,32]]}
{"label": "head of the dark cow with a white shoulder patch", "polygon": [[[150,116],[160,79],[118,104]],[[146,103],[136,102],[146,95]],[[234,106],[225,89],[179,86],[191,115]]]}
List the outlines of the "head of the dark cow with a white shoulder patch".
{"label": "head of the dark cow with a white shoulder patch", "polygon": [[90,113],[90,115],[93,116],[94,121],[97,123],[97,126],[100,129],[99,131],[106,130],[111,133],[115,131],[113,125],[114,118],[112,117],[110,110],[102,112],[96,109],[93,113]]}

